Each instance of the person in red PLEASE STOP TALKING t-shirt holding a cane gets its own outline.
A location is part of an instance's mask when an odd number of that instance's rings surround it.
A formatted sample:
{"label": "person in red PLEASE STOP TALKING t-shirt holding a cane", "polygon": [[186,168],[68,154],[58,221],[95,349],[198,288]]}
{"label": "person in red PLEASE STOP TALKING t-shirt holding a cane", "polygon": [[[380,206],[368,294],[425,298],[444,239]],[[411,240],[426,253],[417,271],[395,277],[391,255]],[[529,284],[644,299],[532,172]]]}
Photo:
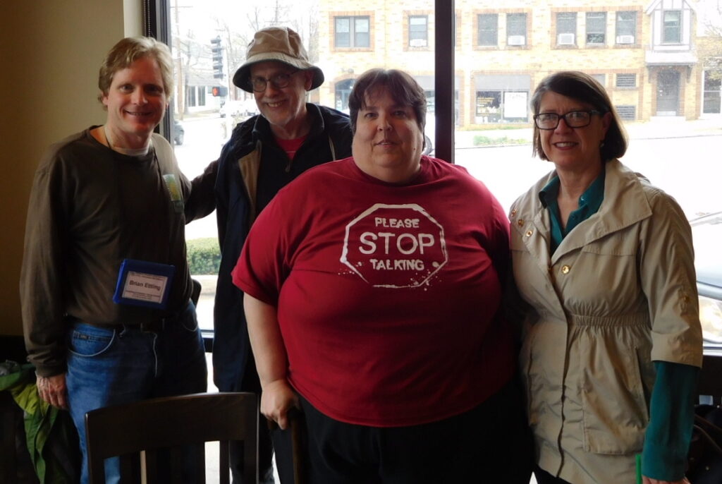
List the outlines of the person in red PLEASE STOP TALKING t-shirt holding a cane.
{"label": "person in red PLEASE STOP TALKING t-shirt holding a cane", "polygon": [[508,219],[464,168],[422,156],[409,74],[362,74],[349,107],[352,157],[279,191],[232,272],[261,412],[286,428],[303,410],[313,483],[528,484],[500,314]]}

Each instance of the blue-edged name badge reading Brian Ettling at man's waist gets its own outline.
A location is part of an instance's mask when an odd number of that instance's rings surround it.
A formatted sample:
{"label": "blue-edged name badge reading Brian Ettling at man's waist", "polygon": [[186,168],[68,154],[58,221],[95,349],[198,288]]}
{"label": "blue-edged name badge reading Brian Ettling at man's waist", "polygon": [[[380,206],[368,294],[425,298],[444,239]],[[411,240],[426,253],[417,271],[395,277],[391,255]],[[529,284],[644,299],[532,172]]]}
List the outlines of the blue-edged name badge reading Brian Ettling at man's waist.
{"label": "blue-edged name badge reading Brian Ettling at man's waist", "polygon": [[118,272],[113,302],[165,309],[175,266],[125,259]]}

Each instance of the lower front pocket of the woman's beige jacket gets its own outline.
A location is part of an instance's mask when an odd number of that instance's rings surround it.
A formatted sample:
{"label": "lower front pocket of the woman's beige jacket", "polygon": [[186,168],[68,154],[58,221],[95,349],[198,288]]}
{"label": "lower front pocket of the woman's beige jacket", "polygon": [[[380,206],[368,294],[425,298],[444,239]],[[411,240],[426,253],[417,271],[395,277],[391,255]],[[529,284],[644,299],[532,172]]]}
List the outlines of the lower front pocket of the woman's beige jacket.
{"label": "lower front pocket of the woman's beige jacket", "polygon": [[614,339],[600,340],[598,345],[606,347],[582,352],[586,353],[581,362],[584,450],[593,454],[640,452],[649,415],[638,349],[621,347]]}

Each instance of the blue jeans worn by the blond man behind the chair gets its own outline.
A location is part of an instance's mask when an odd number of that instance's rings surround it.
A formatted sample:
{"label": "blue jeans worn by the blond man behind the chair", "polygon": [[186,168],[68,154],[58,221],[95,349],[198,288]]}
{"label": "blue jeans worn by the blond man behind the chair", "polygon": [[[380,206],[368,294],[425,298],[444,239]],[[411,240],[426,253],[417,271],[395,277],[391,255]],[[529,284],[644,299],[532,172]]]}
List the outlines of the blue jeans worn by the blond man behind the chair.
{"label": "blue jeans worn by the blond man behind the chair", "polygon": [[[70,414],[83,454],[81,484],[88,482],[86,412],[152,397],[206,392],[206,356],[193,303],[167,319],[158,333],[131,325],[106,329],[74,321],[67,347]],[[119,482],[117,458],[106,460],[105,482]]]}

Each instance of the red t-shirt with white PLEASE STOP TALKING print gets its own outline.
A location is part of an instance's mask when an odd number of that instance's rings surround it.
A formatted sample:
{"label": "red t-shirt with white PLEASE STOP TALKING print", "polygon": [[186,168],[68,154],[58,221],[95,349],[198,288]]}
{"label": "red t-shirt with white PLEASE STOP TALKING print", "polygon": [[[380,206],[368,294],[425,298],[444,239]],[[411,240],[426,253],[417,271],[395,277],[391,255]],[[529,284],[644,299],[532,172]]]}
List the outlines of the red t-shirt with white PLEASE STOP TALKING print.
{"label": "red t-shirt with white PLEASE STOP TALKING print", "polygon": [[352,158],[312,168],[259,215],[232,272],[278,308],[290,384],[336,420],[417,425],[510,380],[499,316],[508,219],[464,168],[430,157],[413,183]]}

